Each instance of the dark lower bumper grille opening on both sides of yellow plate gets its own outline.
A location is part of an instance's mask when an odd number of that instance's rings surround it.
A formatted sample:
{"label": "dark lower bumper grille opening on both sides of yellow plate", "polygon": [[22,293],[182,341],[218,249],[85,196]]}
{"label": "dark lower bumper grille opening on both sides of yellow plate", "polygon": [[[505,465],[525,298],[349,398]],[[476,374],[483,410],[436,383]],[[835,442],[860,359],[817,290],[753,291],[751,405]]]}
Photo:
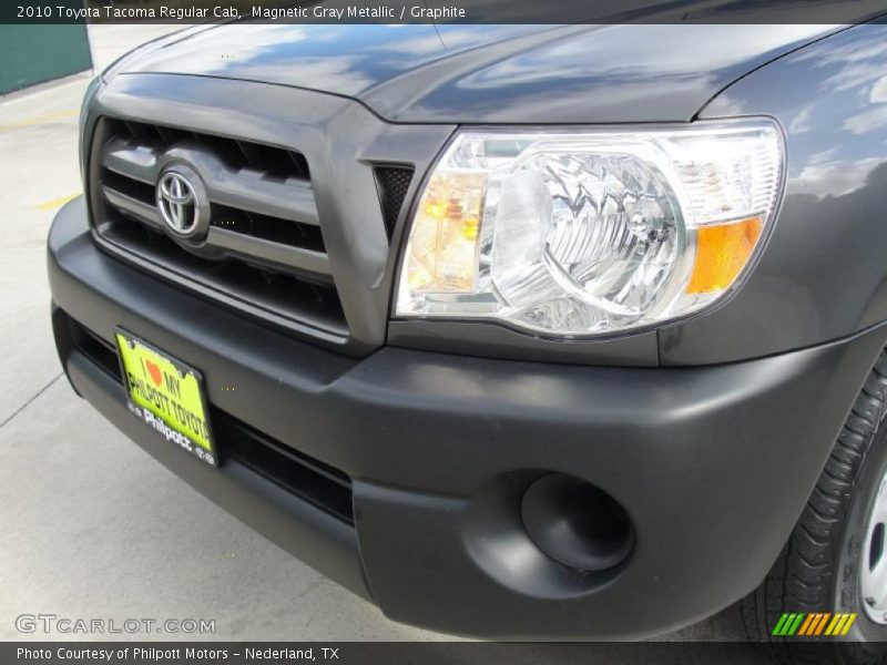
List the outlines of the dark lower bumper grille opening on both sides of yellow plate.
{"label": "dark lower bumper grille opening on both sides of yellow plate", "polygon": [[[123,376],[114,345],[68,315],[64,318],[73,349],[123,389]],[[351,481],[345,472],[266,437],[212,405],[210,418],[223,464],[225,460],[236,460],[287,492],[343,522],[354,524]]]}

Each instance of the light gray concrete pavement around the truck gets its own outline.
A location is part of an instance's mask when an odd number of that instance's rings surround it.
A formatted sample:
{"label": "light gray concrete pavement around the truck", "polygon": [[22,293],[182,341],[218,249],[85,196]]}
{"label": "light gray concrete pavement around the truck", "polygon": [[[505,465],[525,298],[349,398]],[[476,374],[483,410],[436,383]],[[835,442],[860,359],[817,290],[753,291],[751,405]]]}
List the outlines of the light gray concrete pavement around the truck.
{"label": "light gray concrete pavement around the truck", "polygon": [[[169,30],[93,27],[96,64]],[[206,618],[216,631],[203,637],[216,640],[447,638],[386,620],[255,535],[126,441],[61,377],[44,241],[58,207],[81,190],[77,123],[88,80],[0,98],[0,640],[23,637],[14,617],[24,613]],[[665,638],[741,635],[728,610]]]}

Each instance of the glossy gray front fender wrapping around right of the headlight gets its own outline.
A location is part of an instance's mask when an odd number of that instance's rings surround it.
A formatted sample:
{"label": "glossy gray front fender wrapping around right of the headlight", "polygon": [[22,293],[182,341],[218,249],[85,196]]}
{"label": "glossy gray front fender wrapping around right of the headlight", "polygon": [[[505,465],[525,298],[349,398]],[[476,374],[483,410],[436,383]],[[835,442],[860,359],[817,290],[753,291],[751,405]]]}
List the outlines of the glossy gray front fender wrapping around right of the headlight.
{"label": "glossy gray front fender wrapping around right of the headlight", "polygon": [[788,153],[769,243],[725,307],[660,330],[664,365],[768,356],[887,319],[887,24],[787,55],[700,117],[759,114],[782,123]]}

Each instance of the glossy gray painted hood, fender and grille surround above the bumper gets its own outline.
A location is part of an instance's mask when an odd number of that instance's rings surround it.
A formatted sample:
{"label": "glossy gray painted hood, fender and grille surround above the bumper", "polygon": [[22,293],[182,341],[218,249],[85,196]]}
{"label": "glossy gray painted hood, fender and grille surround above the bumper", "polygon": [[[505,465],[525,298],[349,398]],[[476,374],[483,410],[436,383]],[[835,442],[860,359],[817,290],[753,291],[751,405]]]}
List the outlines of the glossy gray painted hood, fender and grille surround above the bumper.
{"label": "glossy gray painted hood, fender and grille surround above the bumper", "polygon": [[[878,184],[887,178],[884,43],[884,24],[449,25],[440,39],[431,25],[222,25],[124,59],[89,116],[190,125],[305,152],[318,207],[332,219],[324,228],[329,260],[345,277],[338,286],[354,334],[349,354],[387,341],[571,364],[718,364],[839,339],[887,319],[887,268],[871,252],[887,243],[879,213],[887,187]],[[747,284],[717,310],[659,332],[581,341],[496,324],[387,321],[408,206],[389,247],[371,163],[416,166],[409,202],[465,122],[761,114],[786,130],[785,203]]]}

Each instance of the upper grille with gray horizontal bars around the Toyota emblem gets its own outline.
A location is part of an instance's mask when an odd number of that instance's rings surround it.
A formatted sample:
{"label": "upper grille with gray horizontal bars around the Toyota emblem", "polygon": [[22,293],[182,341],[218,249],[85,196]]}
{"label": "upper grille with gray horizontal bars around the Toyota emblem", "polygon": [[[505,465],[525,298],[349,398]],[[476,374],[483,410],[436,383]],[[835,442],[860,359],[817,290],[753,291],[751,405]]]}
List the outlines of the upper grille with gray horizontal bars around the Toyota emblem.
{"label": "upper grille with gray horizontal bars around the Toyota emblem", "polygon": [[[95,229],[108,248],[231,307],[327,340],[347,338],[304,155],[103,117],[91,158]],[[156,206],[157,181],[179,162],[205,186],[205,239],[175,237]]]}

